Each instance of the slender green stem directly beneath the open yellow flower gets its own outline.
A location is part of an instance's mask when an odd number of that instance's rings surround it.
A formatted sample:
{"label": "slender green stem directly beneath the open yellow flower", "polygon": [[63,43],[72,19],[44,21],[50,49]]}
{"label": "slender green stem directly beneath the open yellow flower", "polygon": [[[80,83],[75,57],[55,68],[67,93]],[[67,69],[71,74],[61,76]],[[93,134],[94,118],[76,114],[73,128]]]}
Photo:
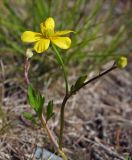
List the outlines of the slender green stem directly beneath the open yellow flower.
{"label": "slender green stem directly beneath the open yellow flower", "polygon": [[63,70],[63,74],[64,74],[64,80],[65,80],[65,87],[66,87],[66,94],[68,94],[68,80],[67,80],[67,74],[66,74],[66,69],[65,69],[65,65],[64,65],[64,62],[61,58],[61,55],[60,53],[58,52],[58,50],[56,49],[56,47],[54,45],[52,45],[55,53],[56,53],[56,59],[60,65],[60,67],[62,67],[62,70]]}

